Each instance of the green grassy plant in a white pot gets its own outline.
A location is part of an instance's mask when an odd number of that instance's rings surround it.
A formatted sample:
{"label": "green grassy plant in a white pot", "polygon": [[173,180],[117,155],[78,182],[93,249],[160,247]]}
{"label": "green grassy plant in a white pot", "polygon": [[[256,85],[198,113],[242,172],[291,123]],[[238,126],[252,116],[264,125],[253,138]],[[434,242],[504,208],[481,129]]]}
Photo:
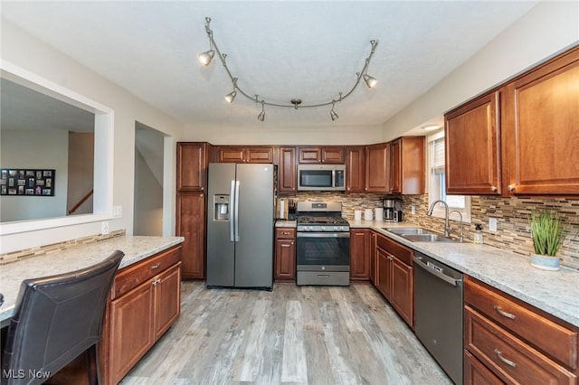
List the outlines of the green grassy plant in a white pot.
{"label": "green grassy plant in a white pot", "polygon": [[563,221],[552,210],[534,211],[529,219],[535,253],[531,254],[531,266],[544,270],[558,270],[557,251],[565,239]]}

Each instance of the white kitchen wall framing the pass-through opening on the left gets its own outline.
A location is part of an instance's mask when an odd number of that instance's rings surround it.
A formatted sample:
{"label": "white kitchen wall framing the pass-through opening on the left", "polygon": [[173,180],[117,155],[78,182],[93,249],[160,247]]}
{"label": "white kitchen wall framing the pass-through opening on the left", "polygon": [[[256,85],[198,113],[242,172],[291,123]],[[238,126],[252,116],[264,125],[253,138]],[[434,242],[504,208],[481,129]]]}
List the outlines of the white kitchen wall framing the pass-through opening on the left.
{"label": "white kitchen wall framing the pass-through opening on the left", "polygon": [[[127,230],[133,227],[133,174],[135,121],[154,127],[168,136],[180,136],[183,126],[175,119],[136,99],[126,90],[109,82],[70,57],[49,47],[29,33],[2,20],[0,23],[1,56],[15,66],[29,70],[44,79],[71,89],[87,98],[114,109],[114,165],[113,165],[113,205],[122,206],[123,216],[109,221],[110,230]],[[168,157],[175,159],[175,149]],[[175,164],[170,167],[172,181]],[[175,189],[175,182],[165,186]],[[175,193],[170,194],[175,197]],[[173,198],[174,200],[175,198]],[[173,206],[175,202],[172,202]],[[175,229],[175,225],[167,226]],[[100,233],[100,222],[34,230],[18,234],[3,235],[0,238],[0,252],[27,249],[67,239],[77,239]]]}

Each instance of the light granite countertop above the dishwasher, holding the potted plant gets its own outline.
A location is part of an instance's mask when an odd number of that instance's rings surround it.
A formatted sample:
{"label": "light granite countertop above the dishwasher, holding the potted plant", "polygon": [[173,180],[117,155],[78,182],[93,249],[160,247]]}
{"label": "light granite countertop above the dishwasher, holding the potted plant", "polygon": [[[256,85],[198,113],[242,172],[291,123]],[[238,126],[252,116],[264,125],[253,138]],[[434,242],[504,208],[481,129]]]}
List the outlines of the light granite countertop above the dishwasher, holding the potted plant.
{"label": "light granite countertop above the dishwasher, holding the potted plant", "polygon": [[350,221],[350,228],[369,228],[494,286],[527,304],[579,326],[579,272],[570,268],[545,271],[512,251],[470,242],[413,242],[388,228],[420,227],[409,222]]}

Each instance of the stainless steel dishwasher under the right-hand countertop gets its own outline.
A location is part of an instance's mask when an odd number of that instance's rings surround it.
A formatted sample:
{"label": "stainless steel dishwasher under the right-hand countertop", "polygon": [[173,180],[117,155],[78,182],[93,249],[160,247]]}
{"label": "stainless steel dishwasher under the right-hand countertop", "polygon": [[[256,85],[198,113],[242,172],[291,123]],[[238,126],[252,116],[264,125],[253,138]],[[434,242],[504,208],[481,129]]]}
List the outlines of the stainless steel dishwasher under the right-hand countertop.
{"label": "stainless steel dishwasher under the right-hand countertop", "polygon": [[462,384],[462,273],[414,253],[414,331],[456,384]]}

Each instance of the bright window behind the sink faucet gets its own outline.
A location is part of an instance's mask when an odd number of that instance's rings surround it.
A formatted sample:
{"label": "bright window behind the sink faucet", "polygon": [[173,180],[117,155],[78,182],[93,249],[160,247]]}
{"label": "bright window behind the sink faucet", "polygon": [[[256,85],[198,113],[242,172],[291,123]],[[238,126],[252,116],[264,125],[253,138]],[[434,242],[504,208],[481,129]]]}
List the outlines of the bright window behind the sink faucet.
{"label": "bright window behind the sink faucet", "polygon": [[[428,136],[428,170],[428,207],[437,200],[447,202],[449,211],[459,211],[462,214],[462,221],[470,222],[470,196],[446,194],[443,132]],[[444,218],[444,215],[444,206],[437,204],[432,211],[432,216]],[[451,213],[451,219],[458,221],[460,216],[457,213]]]}

